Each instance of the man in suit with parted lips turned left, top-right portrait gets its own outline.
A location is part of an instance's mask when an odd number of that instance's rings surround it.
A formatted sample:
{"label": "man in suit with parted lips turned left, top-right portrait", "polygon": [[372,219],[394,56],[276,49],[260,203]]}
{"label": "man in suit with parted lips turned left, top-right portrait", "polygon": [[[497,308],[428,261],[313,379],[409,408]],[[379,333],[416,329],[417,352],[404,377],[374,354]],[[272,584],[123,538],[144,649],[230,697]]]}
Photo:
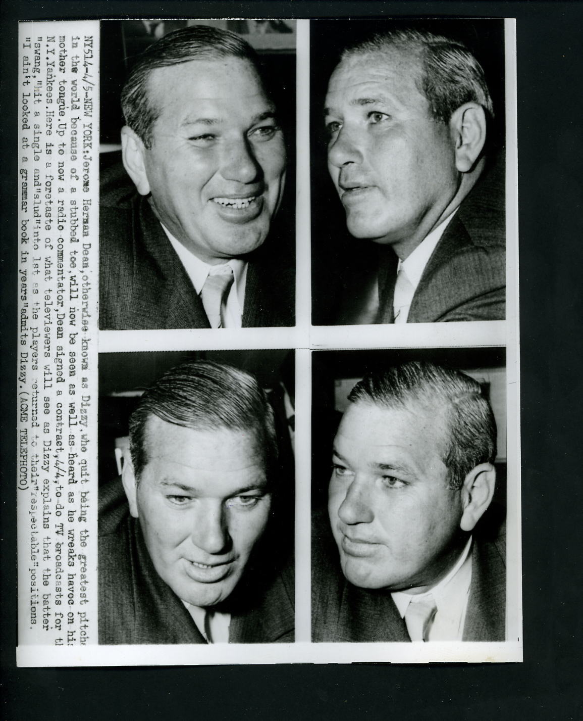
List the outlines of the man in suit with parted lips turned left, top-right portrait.
{"label": "man in suit with parted lips turned left, top-right portrait", "polygon": [[344,50],[324,105],[348,231],[380,246],[357,322],[504,319],[504,213],[484,182],[494,110],[466,46],[374,35]]}

